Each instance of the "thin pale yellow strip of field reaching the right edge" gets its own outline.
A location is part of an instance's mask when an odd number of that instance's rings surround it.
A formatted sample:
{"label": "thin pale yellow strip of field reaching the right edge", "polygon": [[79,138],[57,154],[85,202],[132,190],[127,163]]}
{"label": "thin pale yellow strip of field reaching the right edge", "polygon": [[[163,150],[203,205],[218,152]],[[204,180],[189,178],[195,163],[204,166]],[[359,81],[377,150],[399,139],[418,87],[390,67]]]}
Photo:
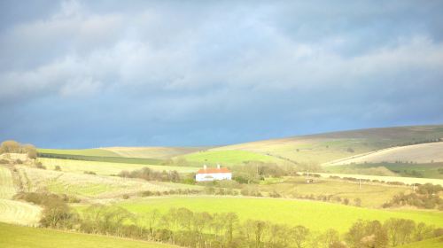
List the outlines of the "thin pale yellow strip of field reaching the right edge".
{"label": "thin pale yellow strip of field reaching the right edge", "polygon": [[442,179],[432,179],[432,178],[383,176],[383,175],[368,175],[368,174],[334,174],[334,173],[316,173],[316,174],[320,174],[323,177],[330,177],[330,176],[338,176],[341,178],[354,177],[354,178],[360,178],[360,179],[378,180],[378,181],[385,181],[385,182],[404,182],[404,183],[410,184],[410,185],[412,185],[413,183],[420,183],[420,184],[432,183],[432,184],[438,184],[438,185],[443,186]]}

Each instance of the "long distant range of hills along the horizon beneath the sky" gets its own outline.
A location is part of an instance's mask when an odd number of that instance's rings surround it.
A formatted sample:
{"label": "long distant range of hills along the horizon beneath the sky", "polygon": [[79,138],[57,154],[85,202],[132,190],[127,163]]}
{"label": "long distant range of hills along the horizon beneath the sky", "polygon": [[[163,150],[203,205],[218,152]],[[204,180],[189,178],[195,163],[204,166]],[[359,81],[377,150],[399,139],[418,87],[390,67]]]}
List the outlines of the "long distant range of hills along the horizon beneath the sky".
{"label": "long distant range of hills along the horizon beneath the sky", "polygon": [[[41,153],[97,157],[186,160],[192,165],[238,165],[248,160],[278,164],[323,164],[395,146],[429,143],[443,139],[443,125],[369,128],[309,136],[292,136],[221,147],[107,147],[85,150],[39,149]],[[431,146],[435,144],[429,144]],[[427,144],[417,147],[427,147]],[[401,150],[401,149],[400,149]],[[405,149],[408,151],[408,149]],[[435,154],[432,153],[432,154]],[[416,151],[421,160],[439,159]],[[434,158],[435,157],[435,158]],[[421,161],[420,160],[420,161]],[[428,161],[428,162],[429,162]]]}

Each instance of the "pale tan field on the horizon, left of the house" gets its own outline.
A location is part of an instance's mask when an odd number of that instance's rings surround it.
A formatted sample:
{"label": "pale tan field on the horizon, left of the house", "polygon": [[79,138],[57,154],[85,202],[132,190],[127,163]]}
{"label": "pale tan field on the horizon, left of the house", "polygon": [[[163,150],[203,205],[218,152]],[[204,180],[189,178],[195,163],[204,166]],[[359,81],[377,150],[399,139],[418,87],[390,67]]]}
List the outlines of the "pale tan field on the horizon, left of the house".
{"label": "pale tan field on the horizon, left of the house", "polygon": [[168,159],[174,156],[186,153],[205,150],[199,147],[104,147],[100,148],[104,151],[112,151],[120,157],[126,158],[142,158],[142,159]]}

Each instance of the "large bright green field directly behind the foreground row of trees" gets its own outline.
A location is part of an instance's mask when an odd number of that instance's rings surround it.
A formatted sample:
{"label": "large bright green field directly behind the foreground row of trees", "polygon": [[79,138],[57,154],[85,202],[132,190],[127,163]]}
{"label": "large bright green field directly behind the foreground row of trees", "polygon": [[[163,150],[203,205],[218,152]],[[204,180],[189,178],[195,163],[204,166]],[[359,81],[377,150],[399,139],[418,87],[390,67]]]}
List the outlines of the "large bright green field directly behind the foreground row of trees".
{"label": "large bright green field directly behind the foreground row of trees", "polygon": [[337,229],[342,233],[358,219],[385,221],[389,218],[403,218],[443,227],[443,214],[438,212],[388,211],[290,199],[171,197],[138,199],[117,205],[133,213],[146,213],[153,209],[166,212],[172,207],[186,207],[195,212],[234,212],[241,220],[272,221],[291,226],[303,225],[319,231]]}

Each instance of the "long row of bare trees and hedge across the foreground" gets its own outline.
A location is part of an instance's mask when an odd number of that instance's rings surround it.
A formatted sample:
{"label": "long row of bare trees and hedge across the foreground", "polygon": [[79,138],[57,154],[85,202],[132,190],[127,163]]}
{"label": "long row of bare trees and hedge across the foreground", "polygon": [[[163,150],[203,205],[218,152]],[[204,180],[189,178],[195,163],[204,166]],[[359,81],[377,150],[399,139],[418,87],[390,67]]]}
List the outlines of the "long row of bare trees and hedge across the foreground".
{"label": "long row of bare trees and hedge across the foreground", "polygon": [[172,208],[167,213],[152,210],[135,214],[120,207],[91,205],[78,214],[69,209],[66,198],[39,194],[42,193],[23,193],[20,198],[43,205],[43,227],[185,247],[378,248],[443,235],[443,229],[404,219],[389,219],[384,223],[357,221],[346,234],[340,235],[335,229],[319,233],[304,226],[291,227],[258,220],[240,221],[236,213],[200,213],[186,208]]}

